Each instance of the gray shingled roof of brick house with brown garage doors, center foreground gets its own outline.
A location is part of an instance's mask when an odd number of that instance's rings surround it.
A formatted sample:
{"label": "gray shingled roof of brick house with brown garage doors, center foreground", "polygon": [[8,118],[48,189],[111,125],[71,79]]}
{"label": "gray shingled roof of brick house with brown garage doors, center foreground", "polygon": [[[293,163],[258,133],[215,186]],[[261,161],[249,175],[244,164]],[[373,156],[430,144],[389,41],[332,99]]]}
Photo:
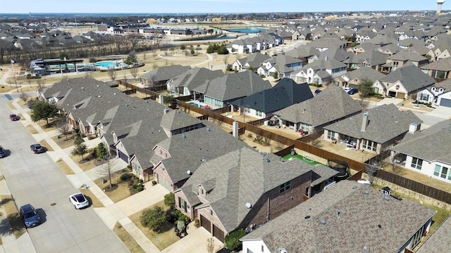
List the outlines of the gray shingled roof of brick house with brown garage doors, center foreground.
{"label": "gray shingled roof of brick house with brown garage doors, center foreground", "polygon": [[302,160],[285,161],[273,154],[240,148],[202,164],[185,186],[197,192],[199,184],[217,179],[214,189],[205,197],[206,202],[198,207],[211,205],[226,231],[234,231],[252,210],[245,203],[254,205],[268,190],[311,173],[312,169],[311,164]]}

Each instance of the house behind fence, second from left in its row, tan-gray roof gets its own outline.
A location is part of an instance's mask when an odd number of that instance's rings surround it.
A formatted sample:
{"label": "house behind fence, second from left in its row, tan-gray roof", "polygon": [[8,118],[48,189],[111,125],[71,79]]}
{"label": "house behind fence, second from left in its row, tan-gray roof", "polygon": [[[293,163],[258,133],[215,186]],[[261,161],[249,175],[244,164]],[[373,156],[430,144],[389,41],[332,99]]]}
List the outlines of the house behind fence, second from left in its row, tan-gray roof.
{"label": "house behind fence, second from left in its row, tan-gray roof", "polygon": [[168,91],[174,96],[189,96],[192,95],[194,100],[199,100],[202,98],[196,96],[195,92],[192,91],[197,86],[201,86],[209,80],[213,80],[218,77],[222,77],[224,72],[222,70],[209,70],[205,67],[194,67],[178,76],[170,79],[167,84]]}

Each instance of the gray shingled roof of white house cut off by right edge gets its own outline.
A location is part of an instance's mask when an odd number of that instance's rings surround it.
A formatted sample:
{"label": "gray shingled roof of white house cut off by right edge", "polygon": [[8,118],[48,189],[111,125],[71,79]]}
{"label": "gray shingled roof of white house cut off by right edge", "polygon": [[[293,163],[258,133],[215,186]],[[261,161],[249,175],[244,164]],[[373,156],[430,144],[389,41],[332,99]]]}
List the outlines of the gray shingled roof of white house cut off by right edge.
{"label": "gray shingled roof of white house cut off by right edge", "polygon": [[407,134],[392,150],[422,160],[451,164],[451,119],[423,131]]}

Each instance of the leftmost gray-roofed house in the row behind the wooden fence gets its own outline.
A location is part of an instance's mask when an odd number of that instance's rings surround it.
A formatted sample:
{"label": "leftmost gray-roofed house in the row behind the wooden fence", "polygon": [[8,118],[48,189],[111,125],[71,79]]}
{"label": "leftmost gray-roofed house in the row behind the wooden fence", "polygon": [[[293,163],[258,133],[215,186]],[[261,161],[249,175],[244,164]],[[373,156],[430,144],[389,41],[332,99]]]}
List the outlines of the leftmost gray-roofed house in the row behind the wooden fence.
{"label": "leftmost gray-roofed house in the row behind the wooden fence", "polygon": [[140,77],[140,82],[152,89],[161,89],[166,86],[167,82],[190,70],[190,66],[172,65],[165,67],[157,67]]}

